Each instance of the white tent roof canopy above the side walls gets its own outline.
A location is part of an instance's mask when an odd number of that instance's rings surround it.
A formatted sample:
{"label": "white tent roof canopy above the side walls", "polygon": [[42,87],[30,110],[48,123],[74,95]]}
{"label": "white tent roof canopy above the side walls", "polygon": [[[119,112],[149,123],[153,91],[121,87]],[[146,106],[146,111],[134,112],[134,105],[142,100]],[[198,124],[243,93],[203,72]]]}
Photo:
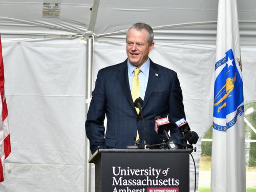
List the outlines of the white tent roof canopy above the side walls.
{"label": "white tent roof canopy above the side walls", "polygon": [[[93,33],[100,38],[124,34],[131,24],[146,22],[158,29],[156,39],[214,41],[216,37],[218,1],[215,0],[52,2],[62,2],[59,18],[42,18],[43,1],[0,2],[1,33],[44,38]],[[246,3],[238,0],[242,42],[255,39],[255,6],[253,0]]]}

